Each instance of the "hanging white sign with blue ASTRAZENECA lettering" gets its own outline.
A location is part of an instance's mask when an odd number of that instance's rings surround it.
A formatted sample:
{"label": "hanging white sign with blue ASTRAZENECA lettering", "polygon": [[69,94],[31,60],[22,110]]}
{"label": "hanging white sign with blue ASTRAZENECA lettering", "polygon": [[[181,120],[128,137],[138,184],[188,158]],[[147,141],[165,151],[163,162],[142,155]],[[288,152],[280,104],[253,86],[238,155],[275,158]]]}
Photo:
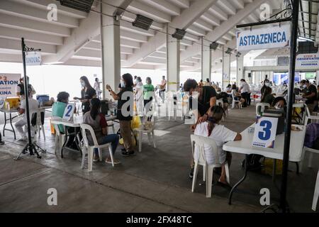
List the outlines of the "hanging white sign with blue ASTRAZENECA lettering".
{"label": "hanging white sign with blue ASTRAZENECA lettering", "polygon": [[237,32],[237,50],[262,50],[289,46],[290,25]]}

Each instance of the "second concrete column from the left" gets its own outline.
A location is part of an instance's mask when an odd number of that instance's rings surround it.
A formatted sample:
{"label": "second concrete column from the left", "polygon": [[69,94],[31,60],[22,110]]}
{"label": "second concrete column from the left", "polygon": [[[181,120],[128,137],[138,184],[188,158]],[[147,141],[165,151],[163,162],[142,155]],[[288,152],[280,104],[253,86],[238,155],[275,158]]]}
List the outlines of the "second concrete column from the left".
{"label": "second concrete column from the left", "polygon": [[166,42],[166,55],[167,55],[167,88],[171,92],[179,90],[179,69],[180,69],[180,41],[173,38],[172,28],[167,26],[167,42]]}

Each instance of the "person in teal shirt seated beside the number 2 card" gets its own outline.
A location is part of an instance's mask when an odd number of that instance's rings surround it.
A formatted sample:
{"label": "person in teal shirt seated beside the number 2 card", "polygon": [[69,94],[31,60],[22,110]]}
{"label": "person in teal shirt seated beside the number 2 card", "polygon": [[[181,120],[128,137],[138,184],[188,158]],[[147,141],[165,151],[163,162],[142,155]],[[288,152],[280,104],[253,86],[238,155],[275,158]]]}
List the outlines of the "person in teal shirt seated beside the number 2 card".
{"label": "person in teal shirt seated beside the number 2 card", "polygon": [[[60,118],[62,118],[68,103],[69,103],[69,93],[60,92],[59,94],[57,94],[57,101],[52,106],[52,116],[59,116]],[[74,138],[75,138],[74,128],[72,127],[66,127],[66,128],[67,128],[67,133],[69,134],[69,139],[67,140],[66,146],[68,148],[77,150],[77,145],[74,143]],[[62,125],[59,125],[59,129],[60,129],[60,133],[65,133],[65,128]],[[77,131],[79,132],[80,129],[78,129]]]}

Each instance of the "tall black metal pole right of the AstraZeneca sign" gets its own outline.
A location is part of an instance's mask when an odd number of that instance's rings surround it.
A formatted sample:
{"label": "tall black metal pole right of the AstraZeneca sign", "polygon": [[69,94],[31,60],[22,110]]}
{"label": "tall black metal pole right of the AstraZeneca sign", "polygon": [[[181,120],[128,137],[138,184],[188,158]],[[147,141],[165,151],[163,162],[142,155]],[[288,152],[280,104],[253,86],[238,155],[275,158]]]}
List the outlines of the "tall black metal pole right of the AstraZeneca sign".
{"label": "tall black metal pole right of the AstraZeneca sign", "polygon": [[291,115],[293,107],[293,88],[295,82],[295,67],[296,67],[296,50],[298,38],[298,12],[299,1],[293,0],[293,13],[291,21],[291,41],[290,41],[290,64],[289,64],[289,90],[288,90],[288,106],[286,113],[286,127],[285,127],[285,140],[284,140],[284,159],[281,177],[281,192],[280,192],[280,208],[283,213],[289,211],[286,204],[287,194],[287,176],[289,165],[289,148],[291,138]]}

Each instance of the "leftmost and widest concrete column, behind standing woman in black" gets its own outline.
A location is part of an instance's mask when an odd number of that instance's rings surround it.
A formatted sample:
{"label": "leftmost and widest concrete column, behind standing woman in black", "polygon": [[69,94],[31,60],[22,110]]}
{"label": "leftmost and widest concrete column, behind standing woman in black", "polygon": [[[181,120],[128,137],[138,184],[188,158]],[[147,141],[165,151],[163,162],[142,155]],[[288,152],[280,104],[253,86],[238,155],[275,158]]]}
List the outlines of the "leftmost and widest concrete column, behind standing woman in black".
{"label": "leftmost and widest concrete column, behind standing woman in black", "polygon": [[[101,4],[102,13],[112,15],[110,7]],[[118,92],[118,84],[121,81],[121,45],[120,45],[120,21],[101,14],[101,55],[102,55],[102,84],[103,98],[111,96],[105,89],[110,84],[115,92]]]}

